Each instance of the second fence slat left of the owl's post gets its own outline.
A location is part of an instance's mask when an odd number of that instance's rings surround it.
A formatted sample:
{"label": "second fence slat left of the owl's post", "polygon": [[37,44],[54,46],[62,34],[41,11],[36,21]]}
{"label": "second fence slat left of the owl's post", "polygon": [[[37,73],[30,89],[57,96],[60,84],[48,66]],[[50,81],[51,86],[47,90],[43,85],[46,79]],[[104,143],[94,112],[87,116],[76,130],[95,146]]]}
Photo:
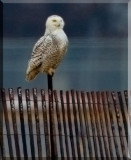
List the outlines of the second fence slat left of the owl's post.
{"label": "second fence slat left of the owl's post", "polygon": [[38,112],[38,101],[37,101],[37,89],[36,88],[33,88],[33,98],[34,98],[34,110],[35,110],[36,132],[37,132],[38,158],[39,160],[42,160],[42,146],[41,146],[39,112]]}

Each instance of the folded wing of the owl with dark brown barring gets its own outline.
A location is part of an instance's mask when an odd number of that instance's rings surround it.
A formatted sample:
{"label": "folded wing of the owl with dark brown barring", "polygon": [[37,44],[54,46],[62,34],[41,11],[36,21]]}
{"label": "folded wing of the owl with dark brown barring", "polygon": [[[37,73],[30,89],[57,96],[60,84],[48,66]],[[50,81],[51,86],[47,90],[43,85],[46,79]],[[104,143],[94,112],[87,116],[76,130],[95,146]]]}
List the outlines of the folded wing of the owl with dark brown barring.
{"label": "folded wing of the owl with dark brown barring", "polygon": [[26,72],[26,80],[29,81],[34,79],[40,72],[40,67],[46,56],[56,50],[58,50],[58,45],[53,35],[48,34],[41,37],[33,48],[32,56],[29,60]]}

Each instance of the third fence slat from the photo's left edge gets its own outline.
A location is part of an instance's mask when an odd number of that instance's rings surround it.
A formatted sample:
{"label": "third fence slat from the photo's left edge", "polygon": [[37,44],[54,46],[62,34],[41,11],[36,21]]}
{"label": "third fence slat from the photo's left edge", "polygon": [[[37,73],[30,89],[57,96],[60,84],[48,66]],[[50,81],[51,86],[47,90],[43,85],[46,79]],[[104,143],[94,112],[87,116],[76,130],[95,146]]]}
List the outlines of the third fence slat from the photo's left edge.
{"label": "third fence slat from the photo's left edge", "polygon": [[20,114],[20,121],[21,121],[21,133],[22,133],[22,141],[23,141],[24,159],[27,160],[28,153],[27,153],[27,144],[26,144],[26,133],[25,133],[25,123],[24,123],[21,87],[17,88],[17,94],[18,94],[18,101],[19,101],[19,114]]}

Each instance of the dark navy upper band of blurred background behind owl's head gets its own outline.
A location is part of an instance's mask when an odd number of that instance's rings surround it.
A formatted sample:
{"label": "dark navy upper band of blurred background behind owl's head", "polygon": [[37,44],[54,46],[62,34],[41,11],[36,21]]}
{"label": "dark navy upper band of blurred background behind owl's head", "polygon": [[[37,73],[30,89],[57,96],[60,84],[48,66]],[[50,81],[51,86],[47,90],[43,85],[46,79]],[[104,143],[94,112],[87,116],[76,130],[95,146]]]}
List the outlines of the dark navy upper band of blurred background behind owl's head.
{"label": "dark navy upper band of blurred background behind owl's head", "polygon": [[128,4],[122,3],[4,3],[4,37],[35,37],[45,30],[52,14],[65,20],[70,37],[128,35]]}

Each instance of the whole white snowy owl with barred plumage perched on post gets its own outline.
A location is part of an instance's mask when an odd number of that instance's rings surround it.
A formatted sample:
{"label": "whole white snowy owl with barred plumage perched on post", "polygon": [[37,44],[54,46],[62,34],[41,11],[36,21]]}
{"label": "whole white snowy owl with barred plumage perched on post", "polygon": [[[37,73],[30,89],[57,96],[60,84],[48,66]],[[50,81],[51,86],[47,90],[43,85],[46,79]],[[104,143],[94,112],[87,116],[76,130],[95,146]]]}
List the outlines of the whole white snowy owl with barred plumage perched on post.
{"label": "whole white snowy owl with barred plumage perched on post", "polygon": [[44,36],[35,44],[28,62],[27,81],[33,80],[40,72],[53,76],[68,47],[68,38],[63,27],[62,17],[52,15],[47,18]]}

